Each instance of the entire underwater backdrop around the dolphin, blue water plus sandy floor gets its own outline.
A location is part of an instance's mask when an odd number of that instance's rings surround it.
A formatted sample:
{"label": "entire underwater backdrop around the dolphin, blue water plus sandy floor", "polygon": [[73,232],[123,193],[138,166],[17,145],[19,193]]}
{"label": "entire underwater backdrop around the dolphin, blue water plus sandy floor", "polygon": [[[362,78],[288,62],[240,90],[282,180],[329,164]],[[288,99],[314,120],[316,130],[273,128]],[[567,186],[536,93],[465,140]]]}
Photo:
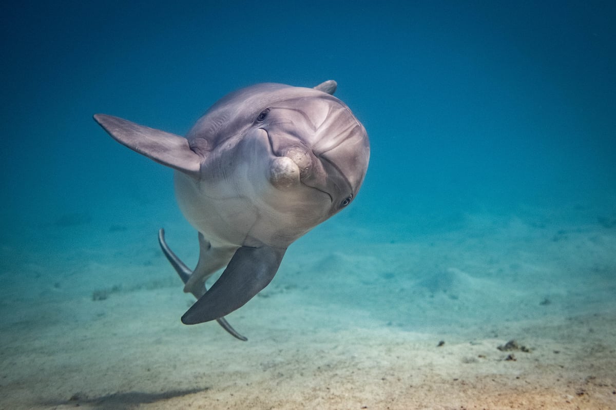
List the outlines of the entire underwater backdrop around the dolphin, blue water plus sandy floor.
{"label": "entire underwater backdrop around the dolphin, blue water plus sandy floor", "polygon": [[[610,1],[0,6],[0,408],[616,408]],[[172,171],[107,113],[185,135],[258,82],[338,82],[357,199],[217,324]]]}

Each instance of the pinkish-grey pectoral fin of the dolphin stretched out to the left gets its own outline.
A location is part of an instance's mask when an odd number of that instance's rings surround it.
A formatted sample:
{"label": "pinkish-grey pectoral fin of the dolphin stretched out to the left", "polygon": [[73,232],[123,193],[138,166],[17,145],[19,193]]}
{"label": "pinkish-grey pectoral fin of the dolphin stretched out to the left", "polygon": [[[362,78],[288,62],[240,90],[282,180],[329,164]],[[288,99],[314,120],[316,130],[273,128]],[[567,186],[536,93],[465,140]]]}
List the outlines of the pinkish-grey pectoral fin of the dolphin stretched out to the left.
{"label": "pinkish-grey pectoral fin of the dolphin stretched out to the left", "polygon": [[131,150],[185,174],[198,174],[203,158],[190,149],[184,137],[110,115],[97,114],[94,119],[113,139]]}

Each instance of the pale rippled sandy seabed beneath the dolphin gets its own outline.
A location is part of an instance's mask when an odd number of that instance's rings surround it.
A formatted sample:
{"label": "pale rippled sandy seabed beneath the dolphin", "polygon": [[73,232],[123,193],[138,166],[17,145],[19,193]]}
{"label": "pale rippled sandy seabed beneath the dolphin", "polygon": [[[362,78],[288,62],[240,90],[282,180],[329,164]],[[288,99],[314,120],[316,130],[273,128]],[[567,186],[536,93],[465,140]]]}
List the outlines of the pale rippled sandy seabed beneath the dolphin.
{"label": "pale rippled sandy seabed beneath the dolphin", "polygon": [[570,212],[334,219],[227,316],[248,342],[180,323],[152,226],[52,223],[2,243],[0,409],[616,409],[615,216]]}

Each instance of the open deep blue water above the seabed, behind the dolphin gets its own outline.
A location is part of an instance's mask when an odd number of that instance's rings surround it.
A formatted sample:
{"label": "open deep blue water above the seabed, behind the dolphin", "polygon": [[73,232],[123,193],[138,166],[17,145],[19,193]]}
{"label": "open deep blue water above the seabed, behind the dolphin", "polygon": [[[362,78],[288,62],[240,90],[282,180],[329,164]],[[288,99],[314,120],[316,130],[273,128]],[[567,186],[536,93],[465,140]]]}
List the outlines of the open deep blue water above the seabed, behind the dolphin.
{"label": "open deep blue water above the seabed, behind the dolphin", "polygon": [[54,243],[50,225],[181,219],[171,171],[92,115],[183,135],[256,82],[338,81],[372,147],[355,224],[410,236],[464,212],[615,217],[611,1],[26,1],[0,15],[3,245],[53,251],[87,238]]}

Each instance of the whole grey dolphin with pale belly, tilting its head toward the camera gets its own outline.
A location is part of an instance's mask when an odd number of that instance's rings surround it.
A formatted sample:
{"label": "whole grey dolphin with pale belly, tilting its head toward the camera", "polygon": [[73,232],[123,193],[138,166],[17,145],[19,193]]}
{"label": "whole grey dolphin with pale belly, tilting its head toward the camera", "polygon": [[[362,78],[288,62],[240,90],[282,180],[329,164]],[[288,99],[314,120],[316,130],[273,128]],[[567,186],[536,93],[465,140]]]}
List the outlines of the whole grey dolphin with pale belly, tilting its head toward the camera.
{"label": "whole grey dolphin with pale belly, tilting its head toward the camera", "polygon": [[314,88],[246,87],[216,102],[185,138],[94,116],[113,139],[175,170],[177,203],[197,229],[200,249],[191,271],[158,233],[184,292],[197,298],[182,323],[216,320],[246,340],[224,316],[270,283],[293,241],[357,196],[370,143],[335,90],[331,80]]}

